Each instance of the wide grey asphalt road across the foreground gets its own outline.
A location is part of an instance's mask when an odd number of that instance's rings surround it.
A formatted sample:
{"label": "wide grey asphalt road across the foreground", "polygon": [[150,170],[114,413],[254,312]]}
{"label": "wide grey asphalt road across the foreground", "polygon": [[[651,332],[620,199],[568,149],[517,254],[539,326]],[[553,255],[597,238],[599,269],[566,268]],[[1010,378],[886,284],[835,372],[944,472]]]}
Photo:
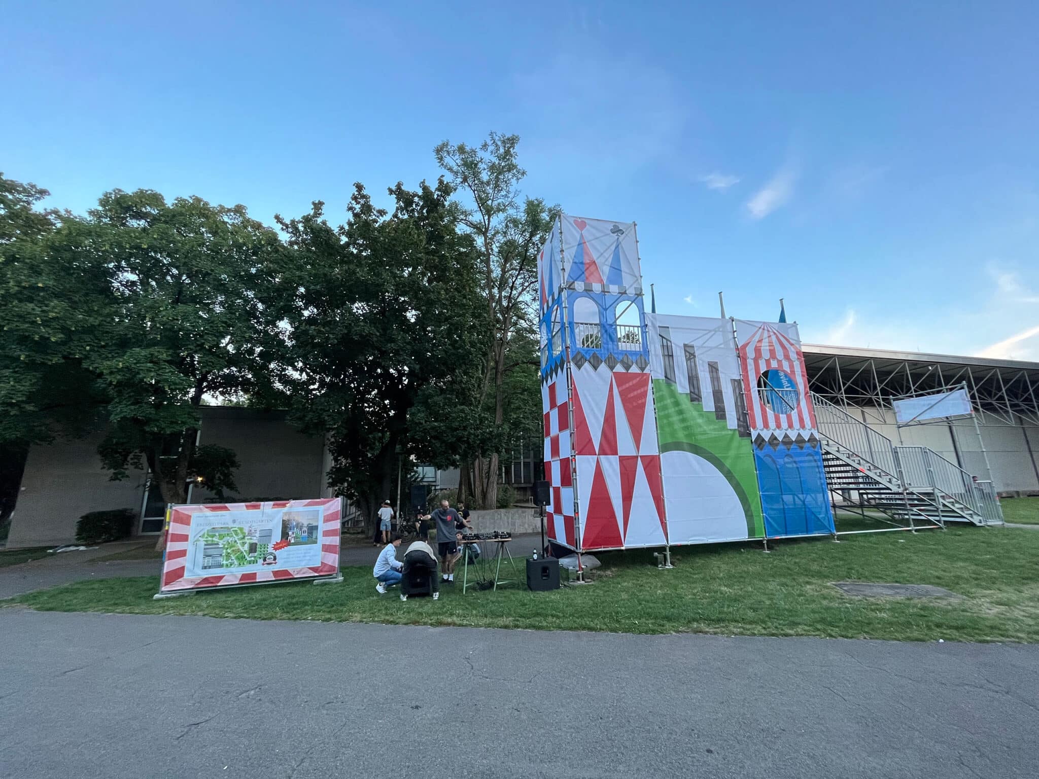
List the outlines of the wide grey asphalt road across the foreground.
{"label": "wide grey asphalt road across the foreground", "polygon": [[1039,646],[0,609],[0,776],[1035,777]]}

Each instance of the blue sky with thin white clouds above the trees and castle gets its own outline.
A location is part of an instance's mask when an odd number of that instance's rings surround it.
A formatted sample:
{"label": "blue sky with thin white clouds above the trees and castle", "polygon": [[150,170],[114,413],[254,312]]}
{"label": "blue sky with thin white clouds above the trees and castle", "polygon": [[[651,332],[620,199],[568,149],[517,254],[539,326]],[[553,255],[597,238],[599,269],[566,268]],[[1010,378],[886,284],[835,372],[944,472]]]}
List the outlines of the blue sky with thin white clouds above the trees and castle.
{"label": "blue sky with thin white clouds above the trees and castle", "polygon": [[6,0],[0,170],[338,218],[514,132],[528,194],[638,222],[661,312],[1039,359],[1035,3],[381,5]]}

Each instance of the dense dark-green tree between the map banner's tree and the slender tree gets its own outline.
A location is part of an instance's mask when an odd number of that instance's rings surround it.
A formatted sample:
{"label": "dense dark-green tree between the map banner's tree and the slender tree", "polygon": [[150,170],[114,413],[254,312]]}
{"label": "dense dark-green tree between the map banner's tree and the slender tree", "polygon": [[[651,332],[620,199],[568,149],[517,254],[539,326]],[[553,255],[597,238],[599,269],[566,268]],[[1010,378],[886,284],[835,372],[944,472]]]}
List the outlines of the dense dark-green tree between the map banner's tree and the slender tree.
{"label": "dense dark-green tree between the map banner's tree and the slender tree", "polygon": [[450,186],[390,194],[393,214],[355,185],[338,227],[320,202],[278,218],[289,253],[273,292],[294,419],[326,435],[329,485],[369,522],[412,455],[457,462],[484,349],[477,257],[455,229]]}

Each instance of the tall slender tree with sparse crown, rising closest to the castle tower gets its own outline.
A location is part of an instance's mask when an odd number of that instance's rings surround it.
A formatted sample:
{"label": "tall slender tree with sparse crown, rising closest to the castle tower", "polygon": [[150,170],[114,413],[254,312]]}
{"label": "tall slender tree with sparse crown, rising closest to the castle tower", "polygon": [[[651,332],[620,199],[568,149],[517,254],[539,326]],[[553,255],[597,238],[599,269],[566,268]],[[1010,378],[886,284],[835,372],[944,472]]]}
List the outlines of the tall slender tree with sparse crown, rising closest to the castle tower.
{"label": "tall slender tree with sparse crown, rising closest to the castle tower", "polygon": [[483,436],[488,444],[474,453],[471,484],[469,468],[462,469],[460,491],[470,488],[473,501],[488,507],[497,504],[500,456],[515,437],[506,422],[507,376],[526,365],[512,358],[510,342],[535,319],[537,254],[559,211],[521,196],[520,182],[527,172],[518,164],[518,143],[516,135],[490,133],[479,146],[444,141],[434,150],[437,163],[463,194],[455,204],[455,217],[473,236],[480,256],[488,330],[475,405],[488,409],[489,430]]}

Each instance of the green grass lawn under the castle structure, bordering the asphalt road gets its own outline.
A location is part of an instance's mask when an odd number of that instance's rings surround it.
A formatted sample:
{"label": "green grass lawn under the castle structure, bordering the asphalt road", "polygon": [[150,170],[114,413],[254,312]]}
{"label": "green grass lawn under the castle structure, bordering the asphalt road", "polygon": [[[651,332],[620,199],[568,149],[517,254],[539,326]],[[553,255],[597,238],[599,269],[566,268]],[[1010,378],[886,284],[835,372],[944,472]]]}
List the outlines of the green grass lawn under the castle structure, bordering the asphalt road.
{"label": "green grass lawn under the castle structure, bordering the asphalt road", "polygon": [[[1039,641],[1039,532],[953,528],[683,547],[673,570],[649,552],[608,553],[594,583],[549,593],[509,586],[438,601],[379,596],[369,566],[342,585],[292,583],[153,600],[155,577],[81,582],[14,601],[52,611],[473,625],[623,633],[824,636],[909,641]],[[830,582],[930,584],[962,600],[853,598]]]}

